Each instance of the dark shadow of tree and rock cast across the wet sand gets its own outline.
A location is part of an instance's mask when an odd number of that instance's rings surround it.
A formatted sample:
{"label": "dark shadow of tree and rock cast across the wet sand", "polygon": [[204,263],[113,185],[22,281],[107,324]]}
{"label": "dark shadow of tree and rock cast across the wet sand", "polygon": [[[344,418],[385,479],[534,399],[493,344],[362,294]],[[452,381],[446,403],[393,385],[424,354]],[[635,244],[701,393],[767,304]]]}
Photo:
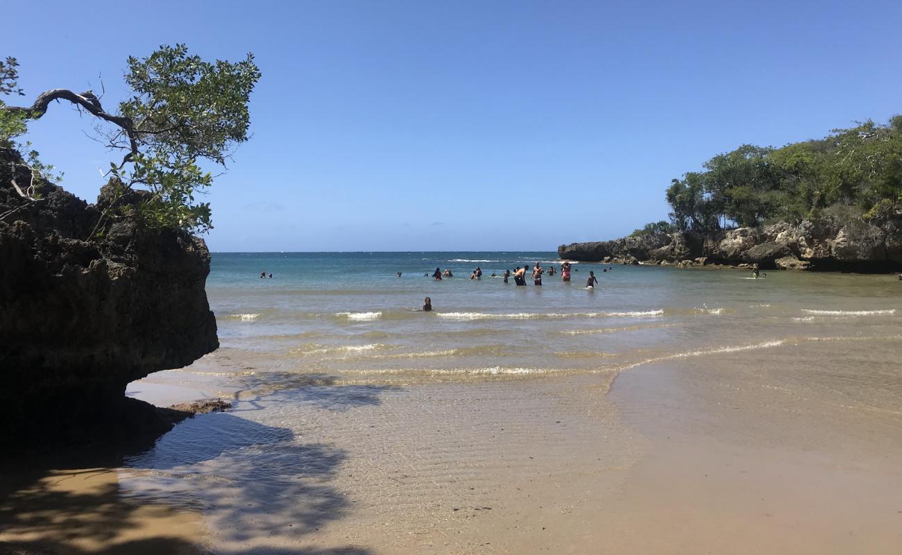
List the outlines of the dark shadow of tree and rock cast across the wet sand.
{"label": "dark shadow of tree and rock cast across the wet sand", "polygon": [[387,389],[336,385],[329,376],[292,380],[297,376],[281,376],[277,387],[251,396],[235,412],[183,421],[137,454],[132,446],[73,451],[40,463],[5,461],[0,468],[0,555],[208,553],[212,551],[196,541],[203,530],[201,514],[216,532],[217,543],[258,541],[253,548],[216,552],[369,554],[356,546],[298,550],[259,545],[269,536],[279,536],[280,545],[303,541],[347,515],[348,498],[331,485],[347,454],[322,443],[304,444],[289,429],[240,415],[252,411],[247,415],[253,416],[278,402],[346,411],[378,404]]}

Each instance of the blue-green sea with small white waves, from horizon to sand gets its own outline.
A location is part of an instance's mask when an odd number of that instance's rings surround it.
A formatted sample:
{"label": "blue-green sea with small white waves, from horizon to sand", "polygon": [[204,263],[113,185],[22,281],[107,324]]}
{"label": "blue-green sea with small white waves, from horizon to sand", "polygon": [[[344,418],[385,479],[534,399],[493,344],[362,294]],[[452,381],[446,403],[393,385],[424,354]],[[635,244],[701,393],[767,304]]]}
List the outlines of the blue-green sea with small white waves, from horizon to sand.
{"label": "blue-green sea with small white waves, from horizon to sand", "polygon": [[[207,293],[222,348],[195,366],[211,371],[228,356],[255,373],[352,381],[597,372],[824,334],[888,337],[902,323],[898,283],[885,275],[754,280],[740,270],[574,264],[569,283],[559,273],[541,287],[491,277],[536,262],[559,272],[557,255],[542,252],[213,254]],[[483,278],[469,280],[476,266]],[[424,276],[437,267],[455,277]],[[590,271],[594,290],[584,287]],[[427,296],[434,311],[417,311]]]}

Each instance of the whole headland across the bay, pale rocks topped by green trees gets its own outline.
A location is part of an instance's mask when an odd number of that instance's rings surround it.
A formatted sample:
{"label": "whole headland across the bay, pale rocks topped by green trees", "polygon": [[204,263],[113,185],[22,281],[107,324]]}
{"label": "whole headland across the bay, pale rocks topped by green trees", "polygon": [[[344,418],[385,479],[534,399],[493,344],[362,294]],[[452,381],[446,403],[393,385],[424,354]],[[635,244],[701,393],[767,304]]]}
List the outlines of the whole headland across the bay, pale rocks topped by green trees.
{"label": "whole headland across the bay, pale rocks topped by green trees", "polygon": [[781,148],[742,145],[672,180],[670,221],[560,245],[608,263],[902,269],[902,116]]}

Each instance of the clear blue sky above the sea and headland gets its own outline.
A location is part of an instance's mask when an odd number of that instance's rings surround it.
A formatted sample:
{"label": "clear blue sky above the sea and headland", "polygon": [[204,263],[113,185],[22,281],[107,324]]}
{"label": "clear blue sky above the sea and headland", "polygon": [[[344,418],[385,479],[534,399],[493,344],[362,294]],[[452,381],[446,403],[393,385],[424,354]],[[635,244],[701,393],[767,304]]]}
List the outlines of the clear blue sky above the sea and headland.
{"label": "clear blue sky above the sea and headland", "polygon": [[[897,1],[185,4],[5,5],[0,56],[22,103],[102,76],[112,109],[129,55],[253,51],[214,251],[554,250],[666,218],[716,153],[902,112]],[[91,125],[53,106],[29,135],[88,200],[115,159]]]}

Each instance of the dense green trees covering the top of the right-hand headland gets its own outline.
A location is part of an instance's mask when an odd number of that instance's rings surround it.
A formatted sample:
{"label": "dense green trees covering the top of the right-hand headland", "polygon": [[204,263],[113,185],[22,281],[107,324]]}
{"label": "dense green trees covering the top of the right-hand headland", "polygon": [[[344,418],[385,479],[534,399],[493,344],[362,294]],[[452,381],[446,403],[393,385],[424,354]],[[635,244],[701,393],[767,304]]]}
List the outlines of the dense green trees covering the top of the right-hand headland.
{"label": "dense green trees covering the top of the right-hand headland", "polygon": [[[902,208],[902,116],[835,129],[782,148],[745,144],[667,188],[676,229],[834,215],[886,217]],[[855,216],[857,215],[857,216]]]}

